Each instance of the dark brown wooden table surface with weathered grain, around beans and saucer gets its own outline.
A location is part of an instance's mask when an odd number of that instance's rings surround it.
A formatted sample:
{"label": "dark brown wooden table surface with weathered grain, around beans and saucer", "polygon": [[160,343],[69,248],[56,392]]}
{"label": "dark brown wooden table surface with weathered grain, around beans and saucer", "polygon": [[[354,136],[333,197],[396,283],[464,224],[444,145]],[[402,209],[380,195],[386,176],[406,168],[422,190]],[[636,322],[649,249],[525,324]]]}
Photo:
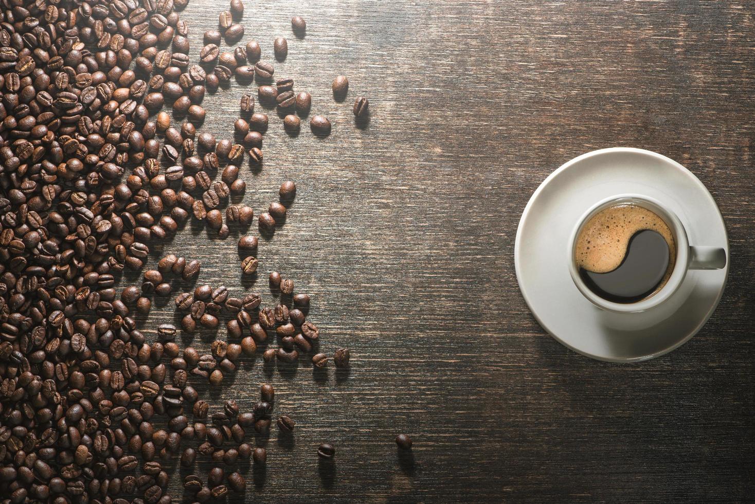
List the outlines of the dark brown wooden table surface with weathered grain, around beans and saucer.
{"label": "dark brown wooden table surface with weathered grain, around beans and saucer", "polygon": [[[278,269],[313,297],[321,348],[350,373],[245,359],[215,397],[258,386],[297,420],[269,439],[256,502],[753,502],[755,8],[748,2],[245,2],[248,41],[313,94],[333,131],[298,137],[270,111],[255,213],[282,180],[298,193],[241,278],[236,230],[194,226],[156,253],[202,260],[200,283],[259,291]],[[192,0],[193,58],[226,2]],[[307,35],[290,18],[307,19]],[[273,38],[288,38],[285,63]],[[344,103],[331,80],[348,75]],[[208,96],[230,137],[236,85]],[[356,128],[354,98],[371,120]],[[305,122],[305,124],[307,124]],[[592,361],[549,337],[516,284],[513,242],[532,191],[559,164],[609,146],[668,155],[720,204],[731,273],[703,330],[643,364]],[[254,229],[256,232],[256,229]],[[174,320],[172,303],[154,323]],[[224,338],[224,330],[220,330]],[[183,337],[207,350],[214,337]],[[414,438],[411,455],[394,436]],[[332,466],[316,446],[337,447]],[[206,464],[202,464],[206,469]],[[181,475],[185,472],[181,472]],[[179,478],[174,496],[181,500]],[[183,502],[190,502],[188,497]]]}

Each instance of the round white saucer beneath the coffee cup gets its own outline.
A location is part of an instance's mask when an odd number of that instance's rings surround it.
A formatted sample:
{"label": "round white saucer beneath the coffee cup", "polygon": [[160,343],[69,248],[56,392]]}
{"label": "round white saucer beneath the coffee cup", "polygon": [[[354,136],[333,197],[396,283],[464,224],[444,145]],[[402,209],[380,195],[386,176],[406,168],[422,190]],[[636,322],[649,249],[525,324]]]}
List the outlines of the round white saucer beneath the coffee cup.
{"label": "round white saucer beneath the coffee cup", "polygon": [[563,345],[600,361],[645,361],[686,343],[718,306],[726,268],[690,271],[670,300],[648,312],[596,308],[577,290],[567,267],[569,233],[596,201],[627,192],[664,201],[692,245],[723,247],[729,240],[713,196],[689,170],[643,149],[602,149],[559,167],[535,190],[519,221],[516,278],[535,318]]}

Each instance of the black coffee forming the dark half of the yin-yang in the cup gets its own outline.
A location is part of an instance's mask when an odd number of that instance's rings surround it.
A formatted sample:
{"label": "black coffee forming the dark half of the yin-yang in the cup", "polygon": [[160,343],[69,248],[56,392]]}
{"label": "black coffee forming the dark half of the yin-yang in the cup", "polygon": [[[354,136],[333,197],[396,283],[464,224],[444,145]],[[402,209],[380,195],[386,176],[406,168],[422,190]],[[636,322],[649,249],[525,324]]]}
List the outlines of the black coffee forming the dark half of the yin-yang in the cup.
{"label": "black coffee forming the dark half of the yin-yang in the cup", "polygon": [[579,274],[594,293],[614,303],[636,303],[649,297],[664,281],[669,266],[668,244],[658,232],[645,229],[630,238],[624,260],[613,271]]}

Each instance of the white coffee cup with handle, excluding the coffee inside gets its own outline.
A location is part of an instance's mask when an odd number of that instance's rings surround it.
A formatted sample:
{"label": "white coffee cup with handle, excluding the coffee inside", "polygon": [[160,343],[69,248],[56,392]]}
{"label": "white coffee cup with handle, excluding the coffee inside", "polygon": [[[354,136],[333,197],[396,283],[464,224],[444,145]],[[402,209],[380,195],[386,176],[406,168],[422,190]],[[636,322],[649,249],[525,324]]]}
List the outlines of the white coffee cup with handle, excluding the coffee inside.
{"label": "white coffee cup with handle, excluding the coffee inside", "polygon": [[[658,292],[655,292],[649,297],[639,300],[636,303],[615,303],[598,296],[590,290],[590,288],[587,287],[587,284],[582,280],[575,260],[577,237],[579,236],[582,227],[600,211],[617,204],[634,204],[654,212],[668,224],[671,233],[673,234],[674,242],[676,243],[676,263],[674,263],[668,281],[660,290],[658,290]],[[572,281],[574,281],[582,295],[598,308],[618,313],[645,312],[646,310],[661,305],[661,303],[664,303],[673,296],[673,293],[675,293],[680,287],[690,269],[722,269],[726,266],[726,250],[723,250],[723,248],[720,247],[690,245],[689,240],[687,239],[687,232],[684,229],[682,222],[679,220],[679,217],[676,217],[676,214],[668,210],[668,208],[660,201],[650,198],[649,196],[638,194],[611,196],[610,198],[598,201],[590,207],[590,209],[578,220],[572,231],[572,236],[569,239],[568,253],[569,274],[572,275]]]}

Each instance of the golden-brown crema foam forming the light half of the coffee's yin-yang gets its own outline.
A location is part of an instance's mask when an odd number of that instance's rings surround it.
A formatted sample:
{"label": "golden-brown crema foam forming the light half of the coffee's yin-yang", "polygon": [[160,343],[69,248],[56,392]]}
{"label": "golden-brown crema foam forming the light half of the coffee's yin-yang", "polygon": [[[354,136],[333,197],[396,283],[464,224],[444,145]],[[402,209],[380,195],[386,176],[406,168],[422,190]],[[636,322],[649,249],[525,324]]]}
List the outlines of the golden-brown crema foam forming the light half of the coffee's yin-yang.
{"label": "golden-brown crema foam forming the light half of the coffee's yin-yang", "polygon": [[668,244],[665,284],[676,261],[676,244],[667,223],[655,212],[636,204],[617,204],[599,211],[582,227],[575,247],[577,267],[595,273],[612,272],[624,261],[629,241],[636,232],[651,229]]}

